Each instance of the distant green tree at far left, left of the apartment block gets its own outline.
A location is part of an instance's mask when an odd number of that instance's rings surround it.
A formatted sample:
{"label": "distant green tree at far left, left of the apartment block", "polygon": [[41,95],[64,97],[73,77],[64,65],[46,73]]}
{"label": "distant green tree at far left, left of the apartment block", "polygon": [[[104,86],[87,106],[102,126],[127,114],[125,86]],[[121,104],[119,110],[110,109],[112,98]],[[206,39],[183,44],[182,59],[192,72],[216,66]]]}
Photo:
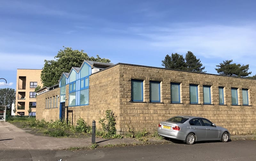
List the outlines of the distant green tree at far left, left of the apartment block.
{"label": "distant green tree at far left, left of the apartment block", "polygon": [[12,103],[15,102],[16,91],[12,88],[0,89],[0,105],[6,106],[6,114],[11,113]]}

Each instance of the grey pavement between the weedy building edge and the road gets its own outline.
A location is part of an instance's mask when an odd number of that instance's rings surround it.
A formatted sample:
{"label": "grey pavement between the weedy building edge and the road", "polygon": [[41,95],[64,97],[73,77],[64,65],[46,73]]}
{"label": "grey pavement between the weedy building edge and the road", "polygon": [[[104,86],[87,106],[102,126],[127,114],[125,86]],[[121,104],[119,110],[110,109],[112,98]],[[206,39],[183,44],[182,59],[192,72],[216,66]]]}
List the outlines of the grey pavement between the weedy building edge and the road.
{"label": "grey pavement between the weedy building edge and the road", "polygon": [[[231,140],[255,138],[255,135],[231,135]],[[135,145],[145,142],[135,138],[103,139],[96,138],[100,147],[111,145]],[[149,138],[147,143],[167,143],[167,140]],[[29,134],[21,128],[17,128],[9,122],[0,121],[0,149],[34,149],[54,150],[71,147],[92,147],[92,138],[55,138]]]}

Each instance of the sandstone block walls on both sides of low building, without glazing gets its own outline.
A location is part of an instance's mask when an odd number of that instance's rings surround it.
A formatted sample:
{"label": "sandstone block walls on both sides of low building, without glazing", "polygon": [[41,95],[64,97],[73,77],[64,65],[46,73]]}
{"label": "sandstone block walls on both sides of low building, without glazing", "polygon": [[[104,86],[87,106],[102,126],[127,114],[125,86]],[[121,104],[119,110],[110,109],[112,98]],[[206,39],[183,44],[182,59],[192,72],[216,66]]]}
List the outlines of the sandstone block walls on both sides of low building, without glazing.
{"label": "sandstone block walls on both sides of low building, without glazing", "polygon": [[[143,102],[131,101],[132,79],[143,80]],[[161,82],[160,103],[150,102],[149,81]],[[171,83],[180,83],[179,104],[171,103]],[[96,127],[99,127],[99,118],[104,118],[105,111],[110,109],[115,113],[116,129],[120,134],[124,134],[129,129],[133,131],[146,129],[154,132],[159,121],[175,115],[208,118],[217,126],[228,128],[231,135],[252,134],[256,132],[255,83],[256,80],[251,79],[118,63],[89,77],[88,106],[68,107],[68,110],[72,110],[72,115],[69,116],[72,116],[74,124],[81,117],[89,125],[95,120]],[[198,104],[190,104],[189,84],[198,85]],[[211,86],[211,105],[203,103],[203,85]],[[219,86],[224,87],[224,105],[219,105]],[[68,85],[66,88],[67,106]],[[232,105],[231,88],[237,88],[237,106]],[[248,89],[248,106],[242,105],[242,89]],[[49,97],[46,94],[51,92],[40,95],[37,106],[40,105],[43,109],[40,113],[37,109],[36,119],[49,120],[59,117],[59,112],[44,109],[45,101],[41,101]],[[47,110],[49,112],[46,112]]]}

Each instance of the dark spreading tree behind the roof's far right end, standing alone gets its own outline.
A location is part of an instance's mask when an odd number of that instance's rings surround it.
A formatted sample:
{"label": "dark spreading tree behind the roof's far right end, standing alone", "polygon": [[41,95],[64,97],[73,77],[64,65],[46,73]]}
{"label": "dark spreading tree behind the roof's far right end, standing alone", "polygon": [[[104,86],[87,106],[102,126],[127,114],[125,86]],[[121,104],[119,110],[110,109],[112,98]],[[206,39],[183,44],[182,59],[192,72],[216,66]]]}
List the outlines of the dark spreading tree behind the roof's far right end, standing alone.
{"label": "dark spreading tree behind the roof's far right end, standing alone", "polygon": [[223,63],[220,63],[220,65],[216,65],[218,68],[215,68],[215,70],[217,70],[220,75],[236,77],[247,77],[252,73],[248,72],[249,64],[241,66],[241,64],[231,64],[232,61],[233,60],[223,61]]}

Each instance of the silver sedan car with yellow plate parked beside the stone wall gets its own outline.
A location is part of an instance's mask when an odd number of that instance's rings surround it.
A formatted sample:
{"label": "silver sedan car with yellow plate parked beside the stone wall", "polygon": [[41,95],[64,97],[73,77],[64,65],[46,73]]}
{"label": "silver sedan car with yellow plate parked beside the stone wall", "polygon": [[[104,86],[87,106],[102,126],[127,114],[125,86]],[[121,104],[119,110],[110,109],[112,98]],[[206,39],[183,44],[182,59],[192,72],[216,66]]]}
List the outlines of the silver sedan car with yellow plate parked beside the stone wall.
{"label": "silver sedan car with yellow plate parked beside the stone wall", "polygon": [[203,117],[195,116],[175,116],[161,121],[157,133],[163,137],[182,140],[187,144],[208,140],[228,142],[230,139],[228,129],[218,127]]}

